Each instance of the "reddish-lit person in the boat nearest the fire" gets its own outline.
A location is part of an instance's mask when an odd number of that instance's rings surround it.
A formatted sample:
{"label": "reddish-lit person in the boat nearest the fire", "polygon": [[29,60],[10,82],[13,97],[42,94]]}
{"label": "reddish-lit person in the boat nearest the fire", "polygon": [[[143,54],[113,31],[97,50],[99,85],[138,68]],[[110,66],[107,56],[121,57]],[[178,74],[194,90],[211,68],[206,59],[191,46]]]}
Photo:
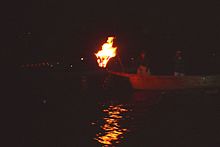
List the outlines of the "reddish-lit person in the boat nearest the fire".
{"label": "reddish-lit person in the boat nearest the fire", "polygon": [[137,74],[150,75],[149,58],[147,57],[146,52],[143,50],[141,51],[137,60],[137,66]]}

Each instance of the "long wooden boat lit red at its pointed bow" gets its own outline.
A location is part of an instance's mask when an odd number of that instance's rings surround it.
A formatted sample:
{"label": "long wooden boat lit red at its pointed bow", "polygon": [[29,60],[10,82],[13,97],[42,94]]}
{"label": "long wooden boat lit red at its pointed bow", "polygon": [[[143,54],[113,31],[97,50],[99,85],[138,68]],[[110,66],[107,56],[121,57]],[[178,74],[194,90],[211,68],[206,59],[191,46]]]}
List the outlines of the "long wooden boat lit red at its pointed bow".
{"label": "long wooden boat lit red at its pointed bow", "polygon": [[128,78],[136,90],[181,90],[194,88],[220,88],[220,75],[210,76],[155,76],[109,71],[110,74]]}

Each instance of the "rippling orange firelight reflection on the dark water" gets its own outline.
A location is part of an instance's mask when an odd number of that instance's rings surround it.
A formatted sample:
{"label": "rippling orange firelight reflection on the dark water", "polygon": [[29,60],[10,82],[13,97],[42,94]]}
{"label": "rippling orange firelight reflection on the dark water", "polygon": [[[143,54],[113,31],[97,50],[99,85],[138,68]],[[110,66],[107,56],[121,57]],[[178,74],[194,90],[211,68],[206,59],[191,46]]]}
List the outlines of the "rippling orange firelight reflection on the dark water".
{"label": "rippling orange firelight reflection on the dark water", "polygon": [[123,138],[123,134],[128,131],[126,128],[122,128],[119,121],[123,119],[122,113],[128,110],[122,108],[123,105],[109,106],[107,109],[103,110],[107,114],[104,117],[104,125],[100,126],[104,133],[96,134],[97,140],[103,146],[112,145],[113,143],[119,143],[119,139]]}

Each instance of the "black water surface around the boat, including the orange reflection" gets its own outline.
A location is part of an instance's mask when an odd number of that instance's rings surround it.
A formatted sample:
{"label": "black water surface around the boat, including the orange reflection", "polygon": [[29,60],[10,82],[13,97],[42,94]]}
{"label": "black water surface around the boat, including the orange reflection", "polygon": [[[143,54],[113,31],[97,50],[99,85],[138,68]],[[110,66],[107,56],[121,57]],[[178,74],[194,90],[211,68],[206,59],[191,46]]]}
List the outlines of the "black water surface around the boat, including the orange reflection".
{"label": "black water surface around the boat, including the orange reflection", "polygon": [[100,73],[17,77],[2,97],[5,146],[220,146],[217,90],[132,91]]}

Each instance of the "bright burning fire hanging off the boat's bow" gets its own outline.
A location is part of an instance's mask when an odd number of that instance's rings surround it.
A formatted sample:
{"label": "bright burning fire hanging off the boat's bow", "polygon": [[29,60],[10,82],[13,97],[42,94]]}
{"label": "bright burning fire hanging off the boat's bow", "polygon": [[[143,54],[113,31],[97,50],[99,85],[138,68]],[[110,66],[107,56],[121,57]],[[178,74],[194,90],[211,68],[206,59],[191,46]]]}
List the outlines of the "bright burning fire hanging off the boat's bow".
{"label": "bright burning fire hanging off the boat's bow", "polygon": [[102,45],[102,50],[95,54],[99,67],[105,68],[109,59],[116,56],[117,47],[112,47],[113,39],[114,37],[108,37],[107,42]]}

